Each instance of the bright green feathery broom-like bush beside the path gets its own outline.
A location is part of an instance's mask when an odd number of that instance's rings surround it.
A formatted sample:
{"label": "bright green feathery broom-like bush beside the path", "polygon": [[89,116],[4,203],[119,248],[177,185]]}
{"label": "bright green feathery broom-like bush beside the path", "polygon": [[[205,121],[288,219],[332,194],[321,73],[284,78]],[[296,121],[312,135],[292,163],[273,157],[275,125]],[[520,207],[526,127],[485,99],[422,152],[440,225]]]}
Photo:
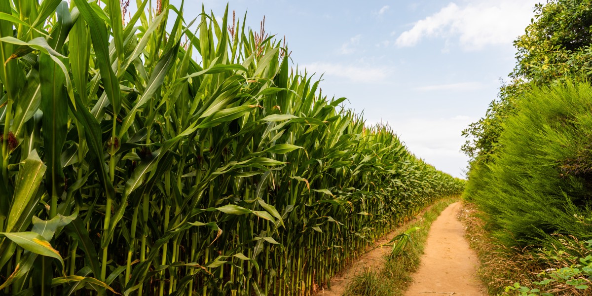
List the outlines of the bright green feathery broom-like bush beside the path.
{"label": "bright green feathery broom-like bush beside the path", "polygon": [[537,88],[503,124],[498,153],[471,168],[465,197],[506,246],[541,246],[549,234],[590,239],[592,88]]}

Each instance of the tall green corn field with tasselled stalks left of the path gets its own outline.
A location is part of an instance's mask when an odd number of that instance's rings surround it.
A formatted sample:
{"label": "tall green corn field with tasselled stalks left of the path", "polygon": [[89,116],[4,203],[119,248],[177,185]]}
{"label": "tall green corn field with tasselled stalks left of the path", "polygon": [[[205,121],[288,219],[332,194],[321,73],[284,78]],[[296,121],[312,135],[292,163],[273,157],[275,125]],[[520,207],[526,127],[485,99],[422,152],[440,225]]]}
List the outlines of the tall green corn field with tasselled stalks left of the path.
{"label": "tall green corn field with tasselled stalks left of the path", "polygon": [[310,295],[462,191],[263,24],[136,2],[0,0],[0,294]]}

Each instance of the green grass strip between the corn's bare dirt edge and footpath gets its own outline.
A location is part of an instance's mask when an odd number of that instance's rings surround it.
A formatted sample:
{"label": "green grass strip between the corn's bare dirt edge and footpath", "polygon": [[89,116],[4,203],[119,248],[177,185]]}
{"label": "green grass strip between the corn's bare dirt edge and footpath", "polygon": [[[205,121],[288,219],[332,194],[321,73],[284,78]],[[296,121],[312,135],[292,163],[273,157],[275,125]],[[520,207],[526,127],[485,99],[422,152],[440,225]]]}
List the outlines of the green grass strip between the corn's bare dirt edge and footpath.
{"label": "green grass strip between the corn's bare dirt edge and footpath", "polygon": [[419,267],[433,221],[458,199],[455,196],[436,201],[423,214],[418,215],[417,220],[404,226],[405,229],[420,229],[411,234],[411,240],[401,252],[388,255],[384,266],[378,271],[366,270],[356,275],[346,287],[343,296],[403,295],[413,280],[413,273]]}

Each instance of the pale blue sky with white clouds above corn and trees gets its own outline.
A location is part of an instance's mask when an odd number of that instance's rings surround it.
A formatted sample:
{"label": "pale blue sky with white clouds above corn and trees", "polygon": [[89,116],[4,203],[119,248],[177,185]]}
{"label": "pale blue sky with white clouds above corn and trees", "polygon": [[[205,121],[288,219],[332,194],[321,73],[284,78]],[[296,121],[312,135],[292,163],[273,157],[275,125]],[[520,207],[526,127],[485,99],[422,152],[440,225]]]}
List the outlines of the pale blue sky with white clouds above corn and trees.
{"label": "pale blue sky with white clouds above corn and trees", "polygon": [[[181,1],[170,0],[171,4]],[[516,64],[513,41],[538,0],[185,1],[185,19],[221,17],[286,37],[293,65],[323,95],[348,98],[366,124],[385,122],[417,157],[465,178],[461,131],[481,118]]]}

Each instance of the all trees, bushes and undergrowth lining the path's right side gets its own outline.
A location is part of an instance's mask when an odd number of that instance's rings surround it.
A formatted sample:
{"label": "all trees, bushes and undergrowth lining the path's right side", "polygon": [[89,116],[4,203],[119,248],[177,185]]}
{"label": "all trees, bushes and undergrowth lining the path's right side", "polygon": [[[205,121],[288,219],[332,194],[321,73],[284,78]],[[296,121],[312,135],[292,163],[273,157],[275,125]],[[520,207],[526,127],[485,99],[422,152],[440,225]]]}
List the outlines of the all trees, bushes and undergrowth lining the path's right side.
{"label": "all trees, bushes and undergrowth lining the path's right side", "polygon": [[464,131],[469,236],[492,295],[590,295],[592,1],[535,9],[513,81]]}

